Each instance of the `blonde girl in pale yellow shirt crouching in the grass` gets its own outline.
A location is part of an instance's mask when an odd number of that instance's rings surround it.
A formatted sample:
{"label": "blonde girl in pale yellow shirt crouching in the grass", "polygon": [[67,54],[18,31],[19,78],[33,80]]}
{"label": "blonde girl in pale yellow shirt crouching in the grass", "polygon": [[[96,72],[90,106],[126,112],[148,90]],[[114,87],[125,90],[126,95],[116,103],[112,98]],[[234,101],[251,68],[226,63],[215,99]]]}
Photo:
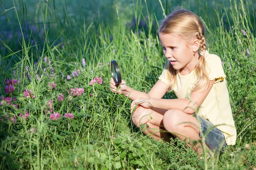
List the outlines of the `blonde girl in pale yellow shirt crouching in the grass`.
{"label": "blonde girl in pale yellow shirt crouching in the grass", "polygon": [[[198,141],[203,134],[211,150],[235,144],[226,75],[221,59],[206,50],[202,21],[191,11],[176,10],[162,21],[158,34],[167,59],[159,80],[148,94],[133,90],[124,80],[117,91],[133,100],[134,124],[146,125],[143,133],[157,140],[169,141],[167,130],[186,139],[199,154],[199,143],[192,145],[189,139]],[[110,88],[116,93],[112,78]],[[177,99],[162,99],[166,91],[174,91]]]}

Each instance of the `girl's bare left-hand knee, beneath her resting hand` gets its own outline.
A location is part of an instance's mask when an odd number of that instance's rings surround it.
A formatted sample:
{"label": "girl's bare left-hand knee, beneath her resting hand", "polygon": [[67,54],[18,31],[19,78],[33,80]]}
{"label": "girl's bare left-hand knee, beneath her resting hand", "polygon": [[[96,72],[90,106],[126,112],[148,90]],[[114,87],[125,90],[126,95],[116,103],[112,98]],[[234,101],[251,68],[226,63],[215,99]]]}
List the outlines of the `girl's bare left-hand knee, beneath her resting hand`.
{"label": "girl's bare left-hand knee, beneath her resting hand", "polygon": [[134,113],[132,114],[132,122],[134,122],[134,124],[137,127],[146,124],[150,120],[150,111],[150,109],[146,109],[141,106],[137,107]]}

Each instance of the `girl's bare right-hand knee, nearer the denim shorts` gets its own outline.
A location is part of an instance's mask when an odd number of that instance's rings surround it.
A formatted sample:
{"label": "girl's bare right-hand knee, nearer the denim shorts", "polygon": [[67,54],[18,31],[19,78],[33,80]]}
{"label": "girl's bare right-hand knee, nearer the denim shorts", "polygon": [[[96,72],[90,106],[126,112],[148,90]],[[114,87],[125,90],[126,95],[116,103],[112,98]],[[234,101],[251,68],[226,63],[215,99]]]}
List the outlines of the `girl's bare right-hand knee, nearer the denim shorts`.
{"label": "girl's bare right-hand knee, nearer the denim shorts", "polygon": [[180,110],[170,109],[163,115],[163,126],[168,131],[176,132],[180,124]]}

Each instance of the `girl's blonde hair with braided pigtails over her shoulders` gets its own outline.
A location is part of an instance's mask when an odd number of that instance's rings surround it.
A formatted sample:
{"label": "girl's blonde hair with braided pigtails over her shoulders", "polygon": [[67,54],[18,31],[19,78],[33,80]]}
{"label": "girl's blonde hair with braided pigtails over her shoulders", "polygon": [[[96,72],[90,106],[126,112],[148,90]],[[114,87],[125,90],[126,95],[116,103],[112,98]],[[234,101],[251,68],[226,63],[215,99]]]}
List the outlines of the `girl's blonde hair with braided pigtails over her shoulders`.
{"label": "girl's blonde hair with braided pigtails over her shoulders", "polygon": [[[187,40],[187,42],[190,42],[190,40],[194,38],[200,40],[201,57],[195,67],[197,81],[192,91],[205,91],[209,87],[209,78],[204,58],[206,51],[204,25],[200,18],[191,11],[178,9],[169,14],[161,22],[157,32],[162,34],[172,34]],[[167,71],[167,78],[171,81],[171,86],[168,91],[172,91],[177,83],[177,71],[172,67],[168,60],[166,60],[165,69],[169,70]]]}

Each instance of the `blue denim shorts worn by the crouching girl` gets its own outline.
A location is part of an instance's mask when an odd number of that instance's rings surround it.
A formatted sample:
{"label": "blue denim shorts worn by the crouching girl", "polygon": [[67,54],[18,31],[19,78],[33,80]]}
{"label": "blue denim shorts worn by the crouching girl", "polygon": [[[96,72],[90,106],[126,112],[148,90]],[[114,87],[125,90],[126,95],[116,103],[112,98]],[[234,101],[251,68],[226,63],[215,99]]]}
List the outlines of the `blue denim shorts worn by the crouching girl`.
{"label": "blue denim shorts worn by the crouching girl", "polygon": [[209,149],[221,153],[223,149],[227,146],[224,134],[207,119],[204,119],[199,115],[197,116],[200,120],[201,125],[201,130],[199,132],[200,138],[202,138],[202,134],[204,134],[204,141]]}

